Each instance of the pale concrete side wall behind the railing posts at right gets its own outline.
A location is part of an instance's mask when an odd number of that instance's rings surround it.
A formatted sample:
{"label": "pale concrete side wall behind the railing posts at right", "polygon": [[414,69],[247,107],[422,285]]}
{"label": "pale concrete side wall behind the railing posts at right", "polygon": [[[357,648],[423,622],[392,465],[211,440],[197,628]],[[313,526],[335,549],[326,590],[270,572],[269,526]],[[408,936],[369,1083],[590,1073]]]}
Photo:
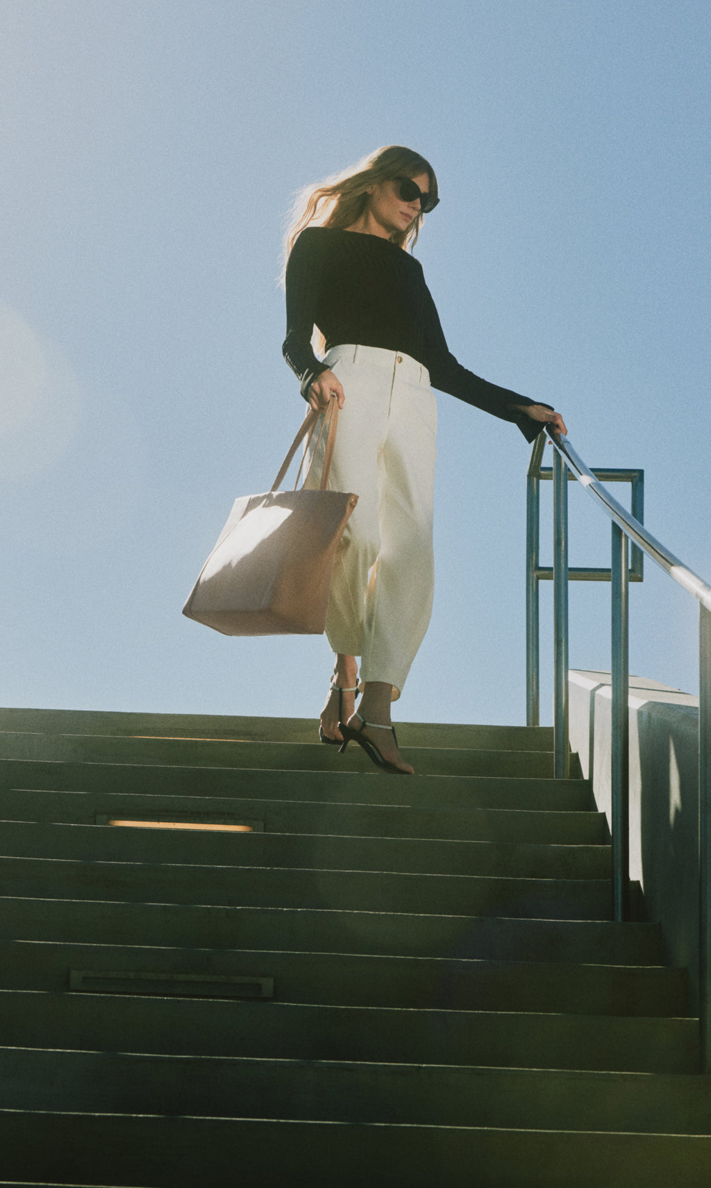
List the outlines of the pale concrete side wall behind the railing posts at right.
{"label": "pale concrete side wall behind the railing posts at right", "polygon": [[[610,823],[609,672],[571,671],[571,748]],[[698,697],[630,677],[630,878],[698,1003]]]}

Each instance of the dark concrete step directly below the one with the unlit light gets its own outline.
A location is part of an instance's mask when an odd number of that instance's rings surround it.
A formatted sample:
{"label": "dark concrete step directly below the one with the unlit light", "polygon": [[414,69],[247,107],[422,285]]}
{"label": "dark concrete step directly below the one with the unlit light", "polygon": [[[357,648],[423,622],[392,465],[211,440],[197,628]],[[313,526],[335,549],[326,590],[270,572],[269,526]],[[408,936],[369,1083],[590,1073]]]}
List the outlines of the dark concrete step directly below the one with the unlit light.
{"label": "dark concrete step directly below the one with the unlit light", "polygon": [[[111,1020],[107,1024],[107,1020]],[[0,991],[20,1048],[696,1073],[696,1019]]]}

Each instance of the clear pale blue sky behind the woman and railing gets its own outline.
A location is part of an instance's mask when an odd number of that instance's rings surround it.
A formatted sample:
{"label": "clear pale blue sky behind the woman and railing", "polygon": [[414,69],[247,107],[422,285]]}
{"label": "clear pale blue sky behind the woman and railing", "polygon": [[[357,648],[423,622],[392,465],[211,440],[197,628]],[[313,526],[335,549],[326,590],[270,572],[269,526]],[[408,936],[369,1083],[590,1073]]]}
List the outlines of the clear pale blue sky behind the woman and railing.
{"label": "clear pale blue sky behind the woman and railing", "polygon": [[[589,465],[643,467],[648,526],[709,580],[710,26],[707,0],[0,0],[0,700],[317,715],[325,638],[181,609],[304,411],[294,191],[385,144],[438,172],[416,254],[451,349]],[[529,449],[439,403],[398,716],[523,722]],[[589,504],[571,562],[606,564]],[[631,614],[633,671],[696,691],[692,600],[649,563]],[[571,624],[571,665],[608,669],[609,587],[573,587]]]}

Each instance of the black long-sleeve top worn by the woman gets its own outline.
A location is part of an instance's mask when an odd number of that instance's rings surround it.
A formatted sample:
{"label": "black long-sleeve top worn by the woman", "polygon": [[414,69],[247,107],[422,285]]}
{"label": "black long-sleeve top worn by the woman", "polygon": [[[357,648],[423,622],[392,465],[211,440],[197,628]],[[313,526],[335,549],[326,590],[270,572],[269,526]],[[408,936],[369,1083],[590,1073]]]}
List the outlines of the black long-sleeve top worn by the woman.
{"label": "black long-sleeve top worn by the woman", "polygon": [[514,422],[527,441],[543,429],[520,411],[533,400],[480,379],[457,361],[422,265],[388,239],[307,227],[296,240],[287,265],[283,353],[301,380],[304,399],[314,379],[328,367],[312,349],[314,324],[327,350],[353,342],[403,352],[427,367],[433,387]]}

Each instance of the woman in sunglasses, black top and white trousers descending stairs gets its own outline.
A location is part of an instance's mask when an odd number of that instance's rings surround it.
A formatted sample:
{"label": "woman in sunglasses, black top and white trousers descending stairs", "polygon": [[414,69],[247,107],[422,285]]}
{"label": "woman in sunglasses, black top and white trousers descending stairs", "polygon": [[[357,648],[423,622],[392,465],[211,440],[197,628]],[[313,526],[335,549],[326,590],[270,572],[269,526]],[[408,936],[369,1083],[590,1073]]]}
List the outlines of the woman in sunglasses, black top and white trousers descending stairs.
{"label": "woman in sunglasses, black top and white trousers descending stairs", "polygon": [[422,266],[407,251],[438,202],[428,162],[391,145],[306,191],[287,236],[284,358],[313,409],[338,400],[329,486],[359,497],[331,589],[335,666],[319,733],[341,750],[360,744],[398,775],[413,767],[397,747],[390,703],[424,637],[434,589],[430,384],[514,422],[527,441],[545,425],[566,432],[548,405],[480,379],[449,353]]}

